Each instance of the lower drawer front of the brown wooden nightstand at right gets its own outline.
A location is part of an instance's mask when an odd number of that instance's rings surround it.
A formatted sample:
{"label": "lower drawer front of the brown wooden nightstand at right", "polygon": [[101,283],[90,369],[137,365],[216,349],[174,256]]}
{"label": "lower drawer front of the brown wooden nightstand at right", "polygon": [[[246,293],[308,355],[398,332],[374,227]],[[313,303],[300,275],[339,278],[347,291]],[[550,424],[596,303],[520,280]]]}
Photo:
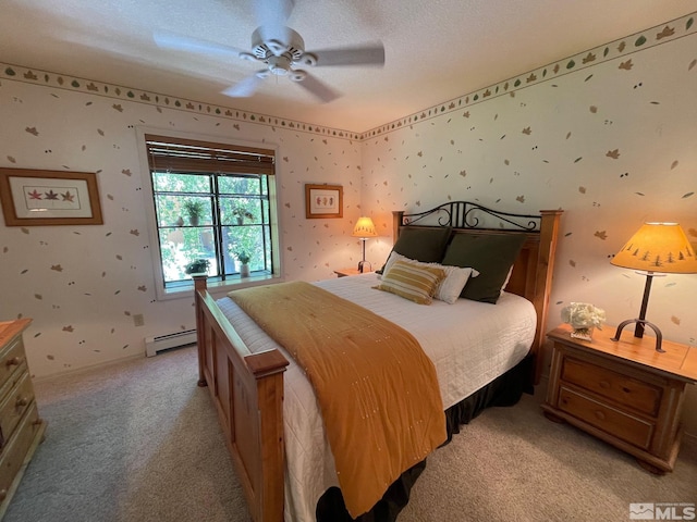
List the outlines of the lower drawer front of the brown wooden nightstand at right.
{"label": "lower drawer front of the brown wooden nightstand at right", "polygon": [[559,393],[558,408],[639,448],[648,449],[651,444],[655,426],[650,422],[563,386]]}

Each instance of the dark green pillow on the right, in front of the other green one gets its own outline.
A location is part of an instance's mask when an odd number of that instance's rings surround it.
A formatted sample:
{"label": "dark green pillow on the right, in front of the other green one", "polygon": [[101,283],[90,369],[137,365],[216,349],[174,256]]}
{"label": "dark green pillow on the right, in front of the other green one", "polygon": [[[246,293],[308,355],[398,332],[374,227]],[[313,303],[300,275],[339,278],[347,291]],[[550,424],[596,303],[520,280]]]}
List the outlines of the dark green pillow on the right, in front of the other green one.
{"label": "dark green pillow on the right, in front of the other green one", "polygon": [[496,303],[525,240],[524,234],[455,234],[441,264],[479,271],[479,276],[467,281],[460,296]]}

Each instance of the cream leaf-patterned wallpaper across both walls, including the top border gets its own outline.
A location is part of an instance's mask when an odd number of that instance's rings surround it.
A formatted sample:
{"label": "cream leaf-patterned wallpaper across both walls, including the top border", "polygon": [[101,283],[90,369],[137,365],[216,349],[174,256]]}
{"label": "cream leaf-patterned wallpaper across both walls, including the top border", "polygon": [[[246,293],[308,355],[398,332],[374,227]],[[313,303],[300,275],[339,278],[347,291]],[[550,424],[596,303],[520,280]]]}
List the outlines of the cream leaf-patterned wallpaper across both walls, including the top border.
{"label": "cream leaf-patterned wallpaper across both walls, including the top border", "polygon": [[[39,376],[142,356],[145,337],[194,326],[189,298],[155,299],[138,125],[278,146],[288,278],[354,265],[359,214],[381,234],[367,243],[380,264],[395,209],[562,208],[550,324],[570,301],[634,318],[645,278],[613,253],[645,220],[678,221],[697,243],[695,32],[688,15],[363,133],[0,65],[0,166],[97,172],[105,212],[103,226],[0,227],[0,320],[34,318]],[[344,219],[305,220],[305,183],[342,185]],[[667,338],[697,345],[695,295],[694,275],[655,282],[648,315]]]}

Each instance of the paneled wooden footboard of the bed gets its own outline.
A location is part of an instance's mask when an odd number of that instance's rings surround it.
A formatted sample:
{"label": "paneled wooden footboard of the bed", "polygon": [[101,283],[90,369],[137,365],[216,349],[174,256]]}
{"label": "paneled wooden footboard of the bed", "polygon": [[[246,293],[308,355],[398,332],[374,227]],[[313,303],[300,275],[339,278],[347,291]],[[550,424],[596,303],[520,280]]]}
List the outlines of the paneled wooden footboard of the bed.
{"label": "paneled wooden footboard of the bed", "polygon": [[278,350],[252,353],[194,276],[198,385],[210,390],[256,522],[283,520],[283,372]]}

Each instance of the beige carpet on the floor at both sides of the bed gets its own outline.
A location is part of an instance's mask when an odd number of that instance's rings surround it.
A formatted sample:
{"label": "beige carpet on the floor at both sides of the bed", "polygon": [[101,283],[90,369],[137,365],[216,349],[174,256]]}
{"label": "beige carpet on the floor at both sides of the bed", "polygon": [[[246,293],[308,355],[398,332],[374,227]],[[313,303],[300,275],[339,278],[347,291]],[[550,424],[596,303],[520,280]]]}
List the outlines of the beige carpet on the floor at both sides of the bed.
{"label": "beige carpet on the floor at both sides of the bed", "polygon": [[[193,348],[35,383],[49,422],[4,522],[246,522]],[[629,502],[696,502],[697,444],[655,476],[537,399],[487,410],[428,458],[399,522],[627,521]]]}

